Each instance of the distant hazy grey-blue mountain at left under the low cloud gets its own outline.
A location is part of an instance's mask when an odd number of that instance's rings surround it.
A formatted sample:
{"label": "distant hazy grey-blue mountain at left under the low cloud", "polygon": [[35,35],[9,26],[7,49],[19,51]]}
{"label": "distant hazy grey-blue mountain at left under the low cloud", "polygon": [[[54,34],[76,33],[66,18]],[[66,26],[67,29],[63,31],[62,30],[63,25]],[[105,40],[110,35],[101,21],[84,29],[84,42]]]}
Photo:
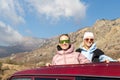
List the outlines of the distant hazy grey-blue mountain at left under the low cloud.
{"label": "distant hazy grey-blue mountain at left under the low cloud", "polygon": [[10,46],[0,46],[0,58],[20,52],[30,52],[47,43],[48,39],[24,37],[23,41]]}

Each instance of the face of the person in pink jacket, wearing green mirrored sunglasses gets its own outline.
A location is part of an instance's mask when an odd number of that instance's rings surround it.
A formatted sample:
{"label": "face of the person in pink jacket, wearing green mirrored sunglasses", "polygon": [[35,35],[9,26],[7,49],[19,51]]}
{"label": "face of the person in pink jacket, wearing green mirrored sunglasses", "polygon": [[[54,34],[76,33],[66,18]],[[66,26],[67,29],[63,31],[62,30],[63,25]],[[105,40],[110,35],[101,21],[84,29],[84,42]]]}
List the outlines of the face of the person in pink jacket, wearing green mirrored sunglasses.
{"label": "face of the person in pink jacket, wearing green mirrored sunglasses", "polygon": [[63,50],[66,50],[69,48],[70,45],[70,38],[67,35],[62,35],[59,38],[59,45]]}

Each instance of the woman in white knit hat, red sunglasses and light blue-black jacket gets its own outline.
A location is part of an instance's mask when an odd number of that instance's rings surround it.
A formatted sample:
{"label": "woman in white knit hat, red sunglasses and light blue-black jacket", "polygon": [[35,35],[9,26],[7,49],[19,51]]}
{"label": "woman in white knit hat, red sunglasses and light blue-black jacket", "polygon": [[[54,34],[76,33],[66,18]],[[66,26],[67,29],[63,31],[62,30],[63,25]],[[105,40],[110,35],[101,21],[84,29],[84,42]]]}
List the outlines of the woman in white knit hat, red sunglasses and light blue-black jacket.
{"label": "woman in white knit hat, red sunglasses and light blue-black jacket", "polygon": [[94,35],[92,32],[84,33],[83,43],[76,51],[83,54],[91,62],[117,61],[113,60],[111,57],[106,56],[102,50],[96,47],[96,43],[94,43]]}

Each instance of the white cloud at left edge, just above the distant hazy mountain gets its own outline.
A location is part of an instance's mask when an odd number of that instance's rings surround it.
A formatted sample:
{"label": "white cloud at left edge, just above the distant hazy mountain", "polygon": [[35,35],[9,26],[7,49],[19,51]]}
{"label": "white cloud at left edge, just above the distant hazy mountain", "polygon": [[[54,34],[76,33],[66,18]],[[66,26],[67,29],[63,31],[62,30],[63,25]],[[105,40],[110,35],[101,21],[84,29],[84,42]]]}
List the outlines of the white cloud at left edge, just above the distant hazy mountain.
{"label": "white cloud at left edge, just above the distant hazy mountain", "polygon": [[22,39],[19,32],[0,21],[0,44],[11,45],[21,42]]}

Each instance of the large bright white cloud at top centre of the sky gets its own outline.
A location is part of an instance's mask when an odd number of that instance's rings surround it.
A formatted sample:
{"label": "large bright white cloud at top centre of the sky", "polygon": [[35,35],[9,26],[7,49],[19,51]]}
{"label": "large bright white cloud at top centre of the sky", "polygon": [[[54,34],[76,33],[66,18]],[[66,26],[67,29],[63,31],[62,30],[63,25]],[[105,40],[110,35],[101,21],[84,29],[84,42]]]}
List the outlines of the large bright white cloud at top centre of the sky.
{"label": "large bright white cloud at top centre of the sky", "polygon": [[[86,5],[80,0],[25,0],[30,10],[35,10],[39,15],[47,18],[83,19],[86,14]],[[32,8],[32,9],[31,9]]]}

